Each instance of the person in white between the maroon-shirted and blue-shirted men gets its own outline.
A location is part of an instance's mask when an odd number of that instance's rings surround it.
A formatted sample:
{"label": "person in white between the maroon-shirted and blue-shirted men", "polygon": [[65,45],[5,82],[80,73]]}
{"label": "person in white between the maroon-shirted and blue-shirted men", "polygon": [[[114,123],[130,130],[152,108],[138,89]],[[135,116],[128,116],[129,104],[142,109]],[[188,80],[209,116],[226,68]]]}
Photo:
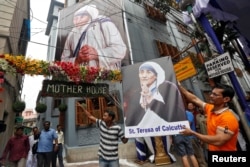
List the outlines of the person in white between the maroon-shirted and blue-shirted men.
{"label": "person in white between the maroon-shirted and blue-shirted men", "polygon": [[37,157],[36,154],[32,153],[32,147],[33,145],[38,142],[39,140],[39,130],[37,127],[32,128],[32,135],[29,136],[29,144],[30,144],[30,150],[27,158],[26,167],[36,167],[37,166]]}

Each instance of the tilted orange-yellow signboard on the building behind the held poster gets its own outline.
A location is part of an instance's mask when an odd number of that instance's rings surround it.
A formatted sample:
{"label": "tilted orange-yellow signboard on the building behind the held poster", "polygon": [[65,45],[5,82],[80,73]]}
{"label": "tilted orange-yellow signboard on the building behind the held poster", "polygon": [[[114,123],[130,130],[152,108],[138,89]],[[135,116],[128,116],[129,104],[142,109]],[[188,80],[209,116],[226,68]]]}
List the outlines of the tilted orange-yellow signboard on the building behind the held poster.
{"label": "tilted orange-yellow signboard on the building behind the held poster", "polygon": [[178,81],[183,81],[197,74],[192,59],[189,56],[176,63],[174,71]]}

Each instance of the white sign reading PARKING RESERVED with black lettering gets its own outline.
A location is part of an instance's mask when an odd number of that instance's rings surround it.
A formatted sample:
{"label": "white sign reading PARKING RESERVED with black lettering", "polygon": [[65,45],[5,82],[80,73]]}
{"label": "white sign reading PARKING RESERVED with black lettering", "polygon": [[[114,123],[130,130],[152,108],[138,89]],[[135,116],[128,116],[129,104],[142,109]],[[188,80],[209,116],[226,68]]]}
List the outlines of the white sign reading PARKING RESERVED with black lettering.
{"label": "white sign reading PARKING RESERVED with black lettering", "polygon": [[228,52],[205,62],[209,78],[214,78],[234,71],[232,60]]}

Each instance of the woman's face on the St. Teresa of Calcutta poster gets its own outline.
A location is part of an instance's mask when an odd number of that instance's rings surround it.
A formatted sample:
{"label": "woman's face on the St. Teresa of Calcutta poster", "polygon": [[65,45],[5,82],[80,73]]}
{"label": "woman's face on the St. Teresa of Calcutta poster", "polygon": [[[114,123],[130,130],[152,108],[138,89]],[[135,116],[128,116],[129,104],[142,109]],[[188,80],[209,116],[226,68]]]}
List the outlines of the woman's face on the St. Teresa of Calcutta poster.
{"label": "woman's face on the St. Teresa of Calcutta poster", "polygon": [[146,84],[149,87],[156,81],[157,77],[152,71],[141,69],[139,71],[139,79],[141,84]]}

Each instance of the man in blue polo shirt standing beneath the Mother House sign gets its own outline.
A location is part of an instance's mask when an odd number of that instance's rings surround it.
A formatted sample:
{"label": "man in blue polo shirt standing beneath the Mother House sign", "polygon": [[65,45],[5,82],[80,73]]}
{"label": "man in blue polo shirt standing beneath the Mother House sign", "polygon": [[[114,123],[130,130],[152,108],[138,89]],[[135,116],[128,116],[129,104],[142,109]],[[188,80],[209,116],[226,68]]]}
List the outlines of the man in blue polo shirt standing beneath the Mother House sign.
{"label": "man in blue polo shirt standing beneath the Mother House sign", "polygon": [[[49,167],[52,161],[53,150],[58,150],[58,140],[56,131],[50,128],[50,122],[45,121],[44,129],[40,133],[37,148],[37,167]],[[53,141],[55,147],[53,148]]]}

